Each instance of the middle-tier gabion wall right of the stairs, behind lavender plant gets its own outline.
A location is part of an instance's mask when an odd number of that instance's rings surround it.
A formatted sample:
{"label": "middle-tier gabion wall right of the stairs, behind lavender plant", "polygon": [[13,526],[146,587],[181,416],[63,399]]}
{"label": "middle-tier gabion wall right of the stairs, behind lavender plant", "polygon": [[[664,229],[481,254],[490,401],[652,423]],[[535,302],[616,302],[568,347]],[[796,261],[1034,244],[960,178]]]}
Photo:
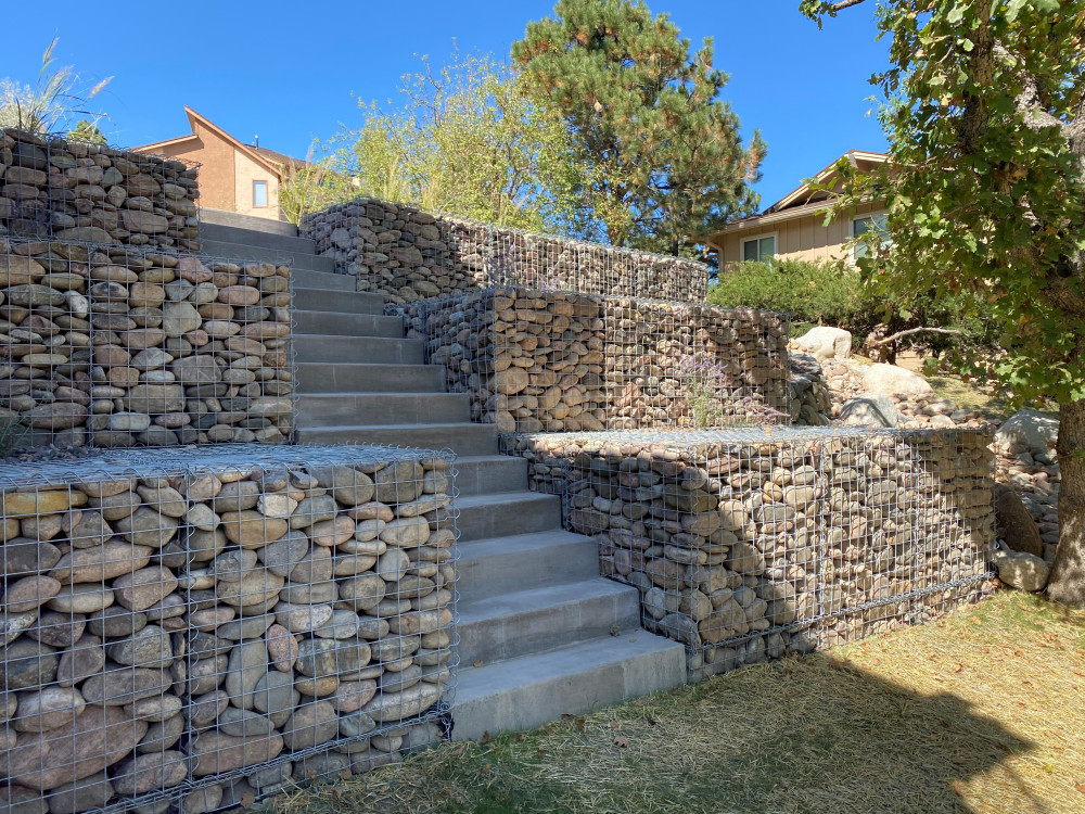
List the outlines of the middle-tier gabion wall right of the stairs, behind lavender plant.
{"label": "middle-tier gabion wall right of the stairs, behind lavender plant", "polygon": [[407,334],[501,432],[790,420],[784,317],[489,289],[407,306]]}

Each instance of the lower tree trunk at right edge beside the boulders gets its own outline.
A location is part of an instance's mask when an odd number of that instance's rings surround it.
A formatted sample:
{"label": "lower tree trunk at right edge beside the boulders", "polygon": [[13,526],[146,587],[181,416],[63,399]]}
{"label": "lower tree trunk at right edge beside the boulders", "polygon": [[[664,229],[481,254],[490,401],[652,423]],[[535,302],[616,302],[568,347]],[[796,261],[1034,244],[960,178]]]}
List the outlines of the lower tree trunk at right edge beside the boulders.
{"label": "lower tree trunk at right edge beside the boulders", "polygon": [[1059,409],[1059,549],[1047,596],[1085,608],[1085,399]]}

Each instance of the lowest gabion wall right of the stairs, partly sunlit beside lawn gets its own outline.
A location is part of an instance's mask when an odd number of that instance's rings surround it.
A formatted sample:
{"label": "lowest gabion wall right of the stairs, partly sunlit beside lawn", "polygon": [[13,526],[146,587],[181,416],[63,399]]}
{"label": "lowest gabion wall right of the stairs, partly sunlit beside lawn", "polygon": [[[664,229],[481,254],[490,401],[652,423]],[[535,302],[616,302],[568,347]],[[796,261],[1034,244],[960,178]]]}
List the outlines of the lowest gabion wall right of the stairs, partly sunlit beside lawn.
{"label": "lowest gabion wall right of the stairs, partly sunlit beside lawn", "polygon": [[[704,673],[927,621],[992,588],[991,438],[728,429],[521,436],[602,573]],[[703,674],[703,673],[702,673]]]}

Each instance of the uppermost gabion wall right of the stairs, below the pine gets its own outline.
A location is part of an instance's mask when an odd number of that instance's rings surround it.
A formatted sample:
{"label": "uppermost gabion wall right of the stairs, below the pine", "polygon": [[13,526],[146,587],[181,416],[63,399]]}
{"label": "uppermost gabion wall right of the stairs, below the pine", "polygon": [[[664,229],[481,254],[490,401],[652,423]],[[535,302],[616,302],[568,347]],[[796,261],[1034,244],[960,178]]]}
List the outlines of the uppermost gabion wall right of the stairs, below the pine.
{"label": "uppermost gabion wall right of the stairs, below the pine", "polygon": [[583,294],[704,302],[709,268],[682,257],[524,232],[375,199],[305,215],[302,237],[361,291],[403,305],[518,285]]}

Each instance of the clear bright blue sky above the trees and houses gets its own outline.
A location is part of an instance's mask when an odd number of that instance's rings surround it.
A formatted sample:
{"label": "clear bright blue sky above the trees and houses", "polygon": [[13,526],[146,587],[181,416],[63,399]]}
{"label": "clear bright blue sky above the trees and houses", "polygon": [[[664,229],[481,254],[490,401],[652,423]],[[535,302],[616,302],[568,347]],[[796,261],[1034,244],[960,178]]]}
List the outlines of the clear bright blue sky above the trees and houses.
{"label": "clear bright blue sky above the trees and houses", "polygon": [[[0,77],[33,82],[53,35],[55,56],[87,79],[115,78],[99,97],[103,131],[120,145],[189,132],[183,105],[242,141],[304,156],[314,138],[358,122],[356,99],[396,97],[416,55],[439,63],[454,48],[507,54],[548,0],[322,0],[320,3],[193,0],[182,5],[122,0],[91,13],[82,2],[12,3]],[[819,31],[799,0],[649,0],[682,35],[715,39],[724,90],[749,133],[768,142],[767,206],[856,148],[881,150],[868,115],[867,79],[884,66],[873,4],[828,21]],[[178,13],[171,9],[183,8]],[[354,94],[354,97],[352,97]]]}

